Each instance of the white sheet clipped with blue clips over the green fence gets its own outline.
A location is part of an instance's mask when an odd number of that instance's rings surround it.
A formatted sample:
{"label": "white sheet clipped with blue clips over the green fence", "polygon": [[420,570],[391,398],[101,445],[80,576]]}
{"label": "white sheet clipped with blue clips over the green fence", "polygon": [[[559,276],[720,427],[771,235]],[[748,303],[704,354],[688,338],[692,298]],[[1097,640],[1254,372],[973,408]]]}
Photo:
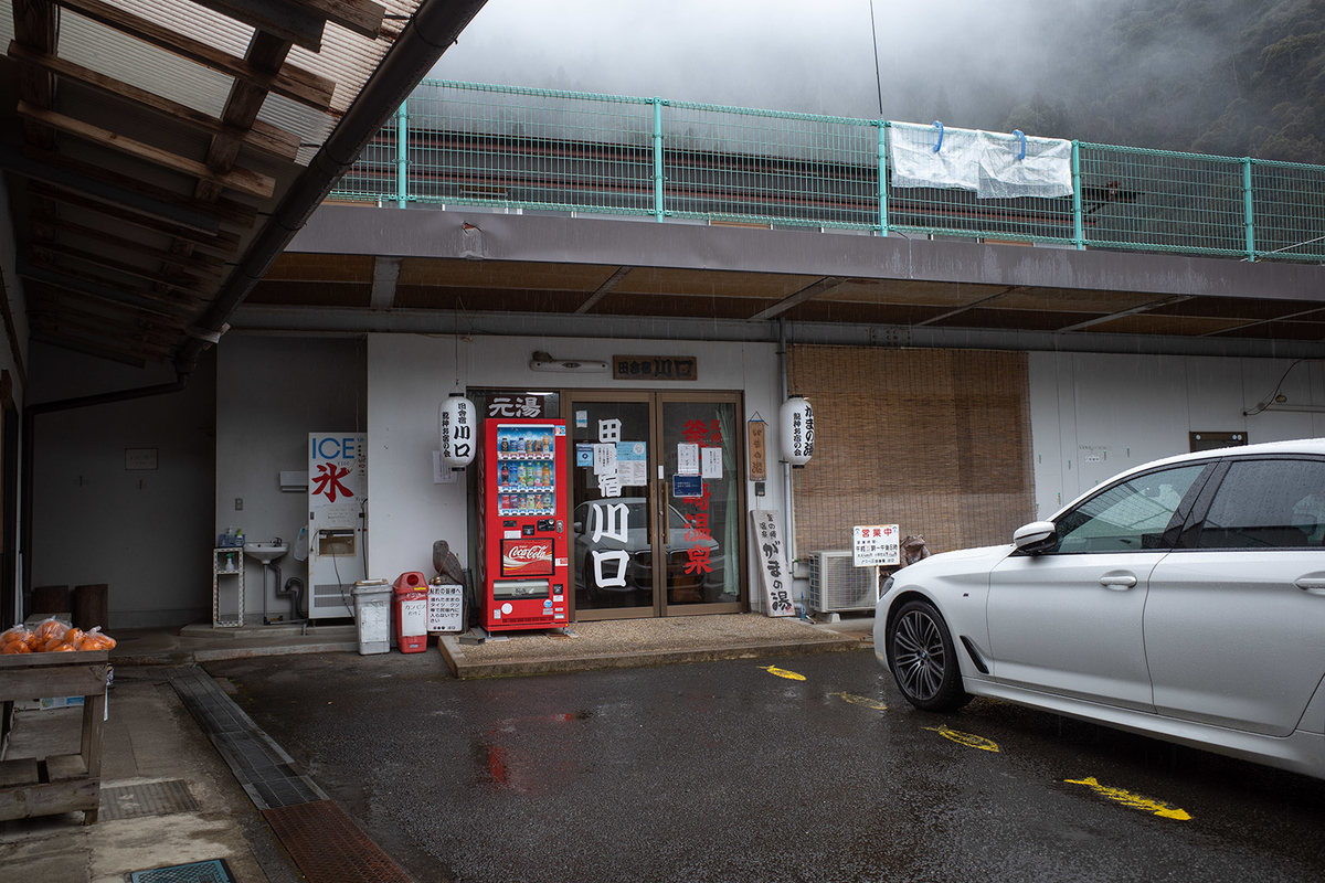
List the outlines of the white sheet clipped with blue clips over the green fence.
{"label": "white sheet clipped with blue clips over the green fence", "polygon": [[978,199],[1072,195],[1072,142],[937,124],[890,130],[892,187],[974,191]]}

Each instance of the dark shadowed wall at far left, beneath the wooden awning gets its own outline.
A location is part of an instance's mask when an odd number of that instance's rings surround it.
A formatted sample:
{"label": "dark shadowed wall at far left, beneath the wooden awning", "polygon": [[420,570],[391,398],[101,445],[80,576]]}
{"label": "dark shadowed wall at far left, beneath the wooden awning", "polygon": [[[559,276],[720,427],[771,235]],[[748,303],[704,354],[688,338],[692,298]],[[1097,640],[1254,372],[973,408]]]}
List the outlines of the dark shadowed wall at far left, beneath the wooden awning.
{"label": "dark shadowed wall at far left, beneath the wooden awning", "polygon": [[[29,402],[170,383],[33,343]],[[94,380],[94,383],[91,383]],[[36,418],[33,585],[106,582],[109,630],[209,618],[215,359],[183,392]],[[155,449],[156,469],[126,469],[126,449]]]}

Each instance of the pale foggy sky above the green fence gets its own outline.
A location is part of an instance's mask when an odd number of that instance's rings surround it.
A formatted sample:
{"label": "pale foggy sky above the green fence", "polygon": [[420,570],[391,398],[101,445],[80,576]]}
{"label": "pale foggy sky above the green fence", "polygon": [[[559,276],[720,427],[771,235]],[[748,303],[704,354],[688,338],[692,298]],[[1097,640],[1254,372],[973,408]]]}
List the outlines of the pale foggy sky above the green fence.
{"label": "pale foggy sky above the green fence", "polygon": [[[1071,101],[1061,34],[1106,3],[874,0],[882,116],[996,128]],[[868,0],[489,0],[431,77],[880,116]]]}

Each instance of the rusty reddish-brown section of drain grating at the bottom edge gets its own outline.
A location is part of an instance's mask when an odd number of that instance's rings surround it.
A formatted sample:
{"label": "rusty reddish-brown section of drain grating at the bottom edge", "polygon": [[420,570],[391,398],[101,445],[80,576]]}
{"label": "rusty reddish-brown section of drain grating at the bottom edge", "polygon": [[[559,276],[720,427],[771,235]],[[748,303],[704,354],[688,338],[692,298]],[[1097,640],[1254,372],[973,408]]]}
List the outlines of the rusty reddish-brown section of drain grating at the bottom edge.
{"label": "rusty reddish-brown section of drain grating at the bottom edge", "polygon": [[309,883],[411,883],[331,801],[265,809],[262,817]]}

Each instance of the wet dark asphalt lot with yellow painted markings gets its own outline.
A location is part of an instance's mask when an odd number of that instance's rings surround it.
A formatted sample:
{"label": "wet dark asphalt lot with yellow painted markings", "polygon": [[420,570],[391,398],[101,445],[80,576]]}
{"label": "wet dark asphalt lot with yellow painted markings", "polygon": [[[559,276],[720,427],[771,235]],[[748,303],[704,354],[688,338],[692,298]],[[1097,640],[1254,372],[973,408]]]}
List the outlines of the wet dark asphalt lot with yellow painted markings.
{"label": "wet dark asphalt lot with yellow painted markings", "polygon": [[1325,878],[1325,782],[990,700],[917,712],[871,651],[207,669],[420,882]]}

